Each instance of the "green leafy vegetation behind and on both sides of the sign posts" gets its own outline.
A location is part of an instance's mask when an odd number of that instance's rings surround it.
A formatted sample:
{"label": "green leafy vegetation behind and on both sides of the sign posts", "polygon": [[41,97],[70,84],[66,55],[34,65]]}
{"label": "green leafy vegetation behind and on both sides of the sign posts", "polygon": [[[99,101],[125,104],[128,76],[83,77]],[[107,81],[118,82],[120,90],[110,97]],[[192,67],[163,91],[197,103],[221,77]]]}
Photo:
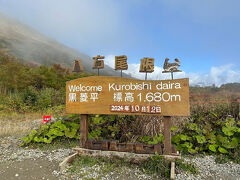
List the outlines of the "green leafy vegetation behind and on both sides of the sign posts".
{"label": "green leafy vegetation behind and on both sides of the sign posts", "polygon": [[[220,155],[219,159],[229,159],[239,163],[240,122],[228,114],[229,107],[225,104],[213,108],[192,109],[192,115],[188,123],[182,125],[181,131],[176,126],[171,128],[175,134],[172,136],[172,143],[183,154]],[[163,134],[141,136],[136,128],[137,125],[135,116],[89,116],[88,138],[146,144],[163,142]],[[51,143],[58,138],[80,139],[79,129],[79,115],[62,117],[53,124],[46,124],[38,130],[33,130],[29,136],[23,138],[23,145],[33,142]]]}

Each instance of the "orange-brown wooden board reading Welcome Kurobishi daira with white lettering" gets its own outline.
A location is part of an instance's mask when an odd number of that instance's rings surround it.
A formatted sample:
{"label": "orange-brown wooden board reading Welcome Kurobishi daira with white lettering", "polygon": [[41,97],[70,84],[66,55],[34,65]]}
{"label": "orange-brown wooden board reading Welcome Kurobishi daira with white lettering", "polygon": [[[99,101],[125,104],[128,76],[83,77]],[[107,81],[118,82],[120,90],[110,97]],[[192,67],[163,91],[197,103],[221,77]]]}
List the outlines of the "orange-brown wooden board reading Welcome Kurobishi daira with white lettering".
{"label": "orange-brown wooden board reading Welcome Kurobishi daira with white lettering", "polygon": [[66,83],[66,112],[189,116],[189,79],[91,76]]}

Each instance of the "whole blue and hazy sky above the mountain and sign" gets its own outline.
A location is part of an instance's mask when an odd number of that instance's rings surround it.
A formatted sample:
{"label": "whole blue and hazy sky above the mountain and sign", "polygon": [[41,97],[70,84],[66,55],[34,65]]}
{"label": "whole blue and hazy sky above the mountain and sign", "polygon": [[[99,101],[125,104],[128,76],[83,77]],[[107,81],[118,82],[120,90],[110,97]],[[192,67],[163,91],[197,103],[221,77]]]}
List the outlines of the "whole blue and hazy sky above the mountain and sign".
{"label": "whole blue and hazy sky above the mountain and sign", "polygon": [[127,55],[138,78],[143,57],[181,61],[192,85],[240,82],[239,0],[0,0],[0,12],[89,56]]}

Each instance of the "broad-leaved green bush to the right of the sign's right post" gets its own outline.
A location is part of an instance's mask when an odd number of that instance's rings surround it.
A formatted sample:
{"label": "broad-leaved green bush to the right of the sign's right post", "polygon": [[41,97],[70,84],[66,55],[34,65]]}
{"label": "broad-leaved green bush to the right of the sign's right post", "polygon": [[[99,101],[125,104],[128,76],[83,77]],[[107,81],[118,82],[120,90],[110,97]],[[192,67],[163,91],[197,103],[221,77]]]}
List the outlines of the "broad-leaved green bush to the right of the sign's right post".
{"label": "broad-leaved green bush to the right of the sign's right post", "polygon": [[198,108],[183,131],[172,137],[172,143],[183,153],[223,154],[239,158],[240,123],[229,116],[225,104],[213,108]]}

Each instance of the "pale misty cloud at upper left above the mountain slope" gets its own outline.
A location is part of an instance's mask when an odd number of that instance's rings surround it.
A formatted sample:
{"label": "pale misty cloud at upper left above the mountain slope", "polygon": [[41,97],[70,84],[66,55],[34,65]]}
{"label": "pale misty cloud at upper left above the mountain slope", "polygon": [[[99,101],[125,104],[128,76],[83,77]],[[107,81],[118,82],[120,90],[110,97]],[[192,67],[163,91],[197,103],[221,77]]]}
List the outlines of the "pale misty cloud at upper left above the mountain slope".
{"label": "pale misty cloud at upper left above the mountain slope", "polygon": [[78,49],[119,40],[121,10],[111,0],[12,0],[4,4],[0,0],[0,11]]}

